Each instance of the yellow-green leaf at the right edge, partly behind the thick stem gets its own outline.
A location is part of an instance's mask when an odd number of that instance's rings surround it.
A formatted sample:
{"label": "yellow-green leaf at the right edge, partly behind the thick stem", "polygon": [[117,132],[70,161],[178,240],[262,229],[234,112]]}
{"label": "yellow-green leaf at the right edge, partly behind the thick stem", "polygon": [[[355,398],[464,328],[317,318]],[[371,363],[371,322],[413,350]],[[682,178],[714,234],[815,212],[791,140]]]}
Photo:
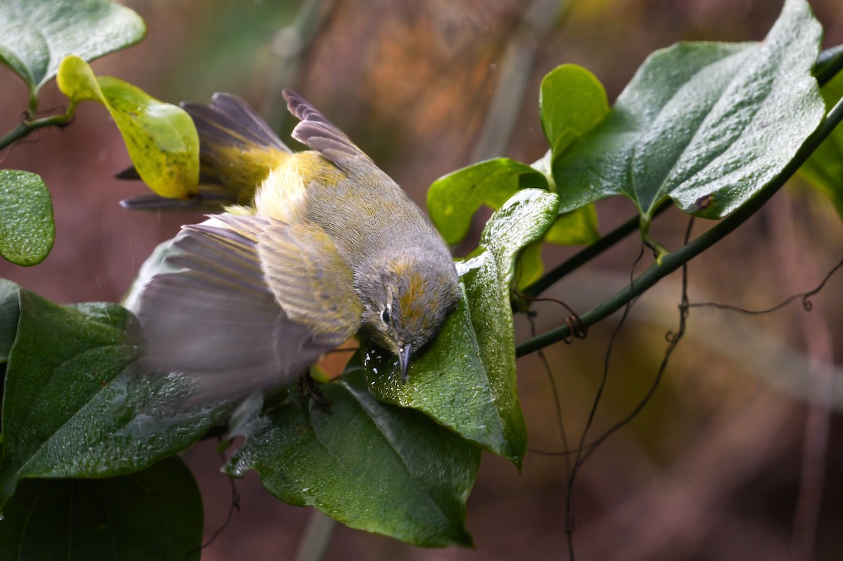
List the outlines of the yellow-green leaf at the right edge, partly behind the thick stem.
{"label": "yellow-green leaf at the right edge, partly behind the thick stem", "polygon": [[[837,74],[822,88],[825,107],[830,110],[843,98],[843,73]],[[799,174],[809,184],[827,195],[843,218],[843,127],[838,126],[814,150]]]}

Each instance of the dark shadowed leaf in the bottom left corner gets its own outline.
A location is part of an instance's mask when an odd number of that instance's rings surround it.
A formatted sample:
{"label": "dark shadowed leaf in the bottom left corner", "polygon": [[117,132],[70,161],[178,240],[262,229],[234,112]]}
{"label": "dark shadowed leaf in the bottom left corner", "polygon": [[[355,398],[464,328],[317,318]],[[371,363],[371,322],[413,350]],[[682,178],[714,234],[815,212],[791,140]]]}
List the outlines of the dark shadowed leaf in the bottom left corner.
{"label": "dark shadowed leaf in the bottom left corner", "polygon": [[0,558],[198,559],[202,518],[177,457],[118,478],[28,480],[3,506]]}

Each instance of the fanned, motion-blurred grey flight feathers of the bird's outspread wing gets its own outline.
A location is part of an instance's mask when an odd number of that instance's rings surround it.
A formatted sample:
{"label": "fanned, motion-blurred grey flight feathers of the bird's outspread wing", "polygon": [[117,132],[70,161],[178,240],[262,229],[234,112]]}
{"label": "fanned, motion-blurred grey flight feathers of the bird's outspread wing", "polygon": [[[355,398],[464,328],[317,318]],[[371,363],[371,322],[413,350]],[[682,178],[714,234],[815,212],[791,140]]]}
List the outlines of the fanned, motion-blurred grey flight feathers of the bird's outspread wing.
{"label": "fanned, motion-blurred grey flight feathers of the bird's outspread wing", "polygon": [[146,361],[191,377],[185,400],[192,403],[289,382],[350,335],[315,333],[288,317],[260,266],[257,237],[266,221],[219,216],[180,232],[137,307]]}

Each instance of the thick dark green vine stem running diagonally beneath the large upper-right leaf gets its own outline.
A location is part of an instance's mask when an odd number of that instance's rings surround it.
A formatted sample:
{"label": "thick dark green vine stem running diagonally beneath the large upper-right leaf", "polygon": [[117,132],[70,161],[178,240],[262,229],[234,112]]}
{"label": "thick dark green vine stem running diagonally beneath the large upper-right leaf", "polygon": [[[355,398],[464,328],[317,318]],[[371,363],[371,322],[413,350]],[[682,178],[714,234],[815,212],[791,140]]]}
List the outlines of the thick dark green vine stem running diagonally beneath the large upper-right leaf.
{"label": "thick dark green vine stem running diagonally beneath the large upper-right leaf", "polygon": [[[718,222],[717,226],[712,227],[708,232],[702,233],[682,248],[664,255],[660,264],[658,262],[652,264],[649,269],[636,277],[635,280],[632,280],[629,286],[626,286],[626,288],[619,291],[615,296],[610,297],[599,306],[593,307],[587,313],[583,313],[580,316],[583,323],[587,327],[590,327],[601,319],[609,317],[609,315],[624,307],[626,302],[640,296],[659,280],[662,280],[663,277],[679,269],[679,267],[690,261],[690,259],[695,258],[707,248],[710,248],[722,238],[725,238],[735,228],[746,222],[749,216],[754,215],[761,206],[764,206],[765,202],[770,200],[776,194],[776,191],[781,189],[781,186],[796,173],[797,169],[808,159],[808,156],[819,147],[820,142],[823,142],[825,137],[829,136],[831,131],[834,131],[835,126],[840,123],[840,120],[843,120],[843,99],[840,99],[834,108],[829,111],[829,114],[826,115],[823,122],[817,127],[817,130],[813,131],[811,136],[808,136],[808,139],[799,148],[796,156],[781,170],[781,174],[759,190],[744,206],[740,206],[732,214]],[[540,334],[538,337],[527,339],[520,343],[515,347],[515,355],[529,355],[529,353],[566,339],[570,335],[571,329],[567,324],[561,325],[556,329],[551,329],[544,334]]]}

